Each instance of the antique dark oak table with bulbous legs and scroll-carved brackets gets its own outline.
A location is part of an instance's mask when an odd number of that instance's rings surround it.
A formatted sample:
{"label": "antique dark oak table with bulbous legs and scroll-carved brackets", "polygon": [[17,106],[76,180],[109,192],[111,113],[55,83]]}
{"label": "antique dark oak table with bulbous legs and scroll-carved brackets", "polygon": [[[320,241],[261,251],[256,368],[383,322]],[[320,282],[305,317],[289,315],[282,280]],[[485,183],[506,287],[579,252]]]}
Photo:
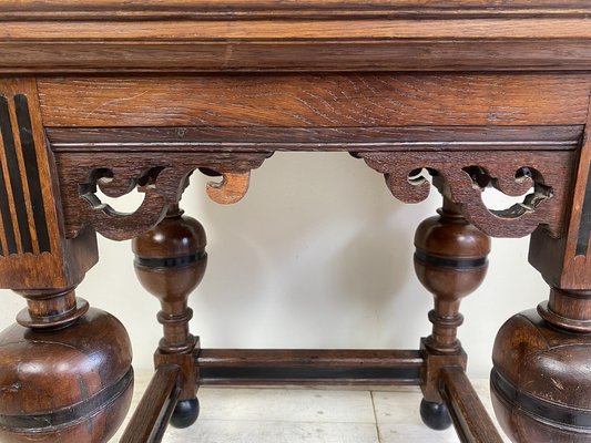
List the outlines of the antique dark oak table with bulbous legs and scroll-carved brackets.
{"label": "antique dark oak table with bulbous legs and scroll-carved brackets", "polygon": [[[591,442],[588,0],[4,0],[0,21],[0,285],[28,303],[0,336],[2,442],[104,442],[128,411],[126,332],[74,295],[96,234],[133,239],[162,303],[125,443],[191,425],[197,387],[233,383],[417,384],[427,425],[500,442],[459,303],[489,236],[528,235],[550,296],[497,337],[496,413],[516,442]],[[188,332],[207,259],[179,207],[190,175],[218,176],[207,194],[230,204],[275,151],[349,152],[407,203],[441,193],[415,237],[435,299],[420,349],[202,349]],[[490,186],[526,197],[492,210]],[[122,214],[99,189],[144,199]]]}

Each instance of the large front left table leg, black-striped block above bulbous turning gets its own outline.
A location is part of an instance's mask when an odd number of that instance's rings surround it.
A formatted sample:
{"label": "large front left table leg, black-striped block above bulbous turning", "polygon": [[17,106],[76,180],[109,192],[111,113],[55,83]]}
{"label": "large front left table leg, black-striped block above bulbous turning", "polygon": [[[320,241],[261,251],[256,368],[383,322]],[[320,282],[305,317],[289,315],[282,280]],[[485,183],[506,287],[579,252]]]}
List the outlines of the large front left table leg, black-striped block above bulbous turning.
{"label": "large front left table leg, black-striped block above bulbous turning", "polygon": [[0,79],[0,287],[28,303],[0,333],[0,441],[106,442],[131,403],[131,343],[75,297],[96,239],[85,225],[65,235],[34,78]]}

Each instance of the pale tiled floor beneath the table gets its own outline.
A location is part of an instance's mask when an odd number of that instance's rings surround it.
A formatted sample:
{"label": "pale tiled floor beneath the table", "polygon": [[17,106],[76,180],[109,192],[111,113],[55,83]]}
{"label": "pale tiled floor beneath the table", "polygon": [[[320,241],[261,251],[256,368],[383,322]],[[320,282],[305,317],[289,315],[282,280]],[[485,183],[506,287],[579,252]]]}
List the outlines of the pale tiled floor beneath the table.
{"label": "pale tiled floor beneath the table", "polygon": [[[151,374],[136,378],[134,404]],[[488,381],[473,382],[491,412]],[[187,430],[169,427],[165,443],[456,443],[419,418],[418,388],[396,391],[202,388],[201,415]],[[113,440],[116,442],[119,435]],[[509,442],[509,440],[507,440]]]}

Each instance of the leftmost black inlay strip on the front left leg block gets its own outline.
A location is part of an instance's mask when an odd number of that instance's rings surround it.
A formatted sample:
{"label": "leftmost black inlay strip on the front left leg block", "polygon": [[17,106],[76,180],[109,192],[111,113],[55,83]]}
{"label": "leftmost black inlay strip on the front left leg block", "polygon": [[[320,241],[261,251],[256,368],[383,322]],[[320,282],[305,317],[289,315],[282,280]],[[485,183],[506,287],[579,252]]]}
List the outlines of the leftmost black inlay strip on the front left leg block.
{"label": "leftmost black inlay strip on the front left leg block", "polygon": [[14,136],[12,135],[12,126],[10,124],[8,100],[4,96],[0,96],[0,132],[2,133],[2,140],[4,142],[4,153],[10,177],[10,185],[12,187],[12,198],[14,199],[14,210],[17,213],[17,220],[19,224],[22,251],[32,253],[33,244],[31,241],[31,233],[29,230],[24,188],[22,186],[22,178],[19,169],[19,158],[17,156],[17,146],[14,144]]}

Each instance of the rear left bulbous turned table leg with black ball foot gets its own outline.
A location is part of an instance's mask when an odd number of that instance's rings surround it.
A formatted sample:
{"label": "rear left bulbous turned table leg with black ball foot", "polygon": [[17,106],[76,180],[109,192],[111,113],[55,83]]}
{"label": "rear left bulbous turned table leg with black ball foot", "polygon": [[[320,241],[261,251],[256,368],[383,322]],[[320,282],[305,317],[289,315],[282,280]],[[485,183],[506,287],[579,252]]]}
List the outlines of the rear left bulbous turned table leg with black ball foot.
{"label": "rear left bulbous turned table leg with black ball foot", "polygon": [[194,218],[183,216],[177,205],[152,230],[133,240],[135,271],[143,287],[161,302],[157,315],[164,338],[154,356],[155,365],[179,364],[182,392],[171,419],[175,427],[192,425],[198,415],[196,364],[198,339],[188,331],[193,311],[187,299],[205,274],[205,231]]}

